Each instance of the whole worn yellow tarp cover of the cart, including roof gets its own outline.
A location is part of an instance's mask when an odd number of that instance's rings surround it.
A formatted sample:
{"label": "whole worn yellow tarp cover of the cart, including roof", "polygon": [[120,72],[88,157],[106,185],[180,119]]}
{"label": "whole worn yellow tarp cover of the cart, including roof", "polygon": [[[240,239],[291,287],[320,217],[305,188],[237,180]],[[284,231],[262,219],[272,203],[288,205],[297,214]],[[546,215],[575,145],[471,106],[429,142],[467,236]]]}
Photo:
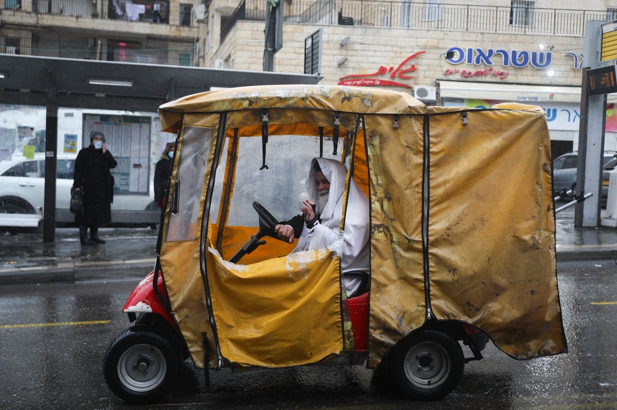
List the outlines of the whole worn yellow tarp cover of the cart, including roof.
{"label": "whole worn yellow tarp cover of the cart, including roof", "polygon": [[[237,113],[227,129],[254,129],[263,108],[281,132],[283,124],[293,131],[294,118],[323,126],[325,115],[342,113],[347,122],[363,115],[354,163],[371,207],[369,366],[429,316],[474,324],[515,358],[566,352],[541,108],[424,107],[377,89],[263,86],[190,95],[159,113],[162,127],[182,137],[182,127],[215,123],[222,112]],[[240,366],[314,363],[344,352],[337,257],[323,250],[233,265],[213,251],[212,229],[202,226],[193,241],[164,243],[160,255],[197,366],[205,364],[202,334],[211,367],[215,346]]]}

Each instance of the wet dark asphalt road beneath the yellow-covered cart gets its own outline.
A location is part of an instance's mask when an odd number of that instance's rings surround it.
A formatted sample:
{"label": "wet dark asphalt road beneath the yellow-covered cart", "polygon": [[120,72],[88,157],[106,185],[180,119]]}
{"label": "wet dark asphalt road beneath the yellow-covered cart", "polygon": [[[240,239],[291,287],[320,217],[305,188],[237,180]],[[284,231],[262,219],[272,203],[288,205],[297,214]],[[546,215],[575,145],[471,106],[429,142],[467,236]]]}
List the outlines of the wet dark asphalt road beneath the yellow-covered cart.
{"label": "wet dark asphalt road beneath the yellow-covered cart", "polygon": [[617,265],[558,263],[569,353],[516,361],[489,344],[453,393],[409,402],[374,371],[305,367],[231,374],[186,362],[162,402],[128,406],[107,389],[107,345],[135,281],[0,286],[1,409],[617,409]]}

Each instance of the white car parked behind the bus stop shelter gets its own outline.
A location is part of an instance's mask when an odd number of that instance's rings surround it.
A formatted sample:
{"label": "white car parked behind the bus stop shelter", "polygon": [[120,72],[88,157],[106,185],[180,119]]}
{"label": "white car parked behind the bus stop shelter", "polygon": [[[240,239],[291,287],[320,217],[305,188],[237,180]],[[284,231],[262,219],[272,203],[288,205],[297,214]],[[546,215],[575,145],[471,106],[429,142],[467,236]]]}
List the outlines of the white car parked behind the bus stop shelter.
{"label": "white car parked behind the bus stop shelter", "polygon": [[[56,209],[68,212],[76,154],[58,154],[56,169]],[[35,158],[14,156],[0,161],[0,227],[37,227],[43,219],[45,195],[45,154]],[[114,195],[112,212],[155,209],[154,187],[148,195]]]}

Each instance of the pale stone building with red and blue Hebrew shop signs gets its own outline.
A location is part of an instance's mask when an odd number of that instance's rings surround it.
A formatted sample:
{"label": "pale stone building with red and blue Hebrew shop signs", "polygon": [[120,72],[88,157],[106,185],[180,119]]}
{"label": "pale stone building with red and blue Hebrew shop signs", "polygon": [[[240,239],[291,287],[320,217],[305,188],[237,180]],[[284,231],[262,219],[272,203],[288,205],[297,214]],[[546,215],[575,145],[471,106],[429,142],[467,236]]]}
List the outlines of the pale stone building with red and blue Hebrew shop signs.
{"label": "pale stone building with red and blue Hebrew shop signs", "polygon": [[[540,105],[554,153],[578,148],[585,23],[617,19],[617,5],[603,0],[584,6],[499,0],[473,7],[456,0],[363,1],[362,6],[359,0],[325,1],[329,8],[305,17],[317,3],[281,0],[283,41],[275,71],[302,72],[307,41],[317,38],[320,84],[386,87],[428,105]],[[233,4],[238,2],[213,0],[207,7],[203,63],[262,70],[267,6],[242,0],[243,17],[236,19],[240,7],[232,11]],[[617,150],[615,99],[608,96],[607,150]]]}

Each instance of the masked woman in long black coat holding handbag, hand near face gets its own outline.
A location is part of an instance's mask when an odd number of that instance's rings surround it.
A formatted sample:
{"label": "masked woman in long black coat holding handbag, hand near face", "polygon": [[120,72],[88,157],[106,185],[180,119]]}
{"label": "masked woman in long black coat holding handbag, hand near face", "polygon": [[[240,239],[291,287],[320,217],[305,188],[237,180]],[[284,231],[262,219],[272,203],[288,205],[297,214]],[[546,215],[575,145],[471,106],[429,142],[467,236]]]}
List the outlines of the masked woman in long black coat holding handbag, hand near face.
{"label": "masked woman in long black coat holding handbag, hand near face", "polygon": [[[111,203],[114,201],[114,177],[109,169],[118,163],[107,150],[105,135],[90,133],[90,145],[79,151],[75,159],[73,187],[83,189],[83,214],[75,215],[79,223],[82,244],[105,243],[98,236],[99,226],[111,222]],[[90,236],[88,238],[88,228]]]}

